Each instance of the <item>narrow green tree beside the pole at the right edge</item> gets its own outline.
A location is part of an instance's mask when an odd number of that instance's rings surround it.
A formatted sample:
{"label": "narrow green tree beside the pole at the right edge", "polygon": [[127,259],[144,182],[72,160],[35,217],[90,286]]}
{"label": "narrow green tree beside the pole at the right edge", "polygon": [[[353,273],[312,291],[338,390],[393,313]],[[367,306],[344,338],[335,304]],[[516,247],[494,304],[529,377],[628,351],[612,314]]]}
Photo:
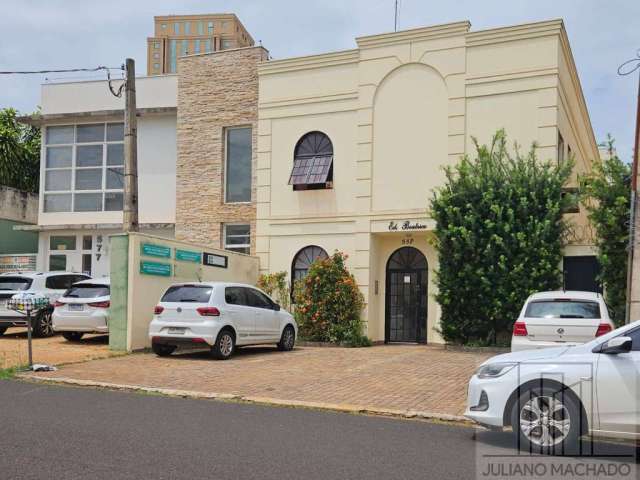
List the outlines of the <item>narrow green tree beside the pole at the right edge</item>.
{"label": "narrow green tree beside the pole at the right edge", "polygon": [[605,145],[609,158],[595,160],[590,174],[580,178],[580,194],[596,231],[600,281],[616,324],[624,322],[627,248],[631,205],[631,166],[614,153],[614,140]]}

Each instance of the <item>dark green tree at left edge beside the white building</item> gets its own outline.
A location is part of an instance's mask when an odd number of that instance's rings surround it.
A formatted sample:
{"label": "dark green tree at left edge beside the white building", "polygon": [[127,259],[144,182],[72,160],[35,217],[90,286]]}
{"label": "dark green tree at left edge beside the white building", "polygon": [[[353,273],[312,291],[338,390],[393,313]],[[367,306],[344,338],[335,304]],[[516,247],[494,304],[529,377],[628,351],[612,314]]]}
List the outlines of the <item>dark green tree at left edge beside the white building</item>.
{"label": "dark green tree at left edge beside the white building", "polygon": [[0,185],[38,193],[40,130],[17,121],[13,108],[0,110]]}

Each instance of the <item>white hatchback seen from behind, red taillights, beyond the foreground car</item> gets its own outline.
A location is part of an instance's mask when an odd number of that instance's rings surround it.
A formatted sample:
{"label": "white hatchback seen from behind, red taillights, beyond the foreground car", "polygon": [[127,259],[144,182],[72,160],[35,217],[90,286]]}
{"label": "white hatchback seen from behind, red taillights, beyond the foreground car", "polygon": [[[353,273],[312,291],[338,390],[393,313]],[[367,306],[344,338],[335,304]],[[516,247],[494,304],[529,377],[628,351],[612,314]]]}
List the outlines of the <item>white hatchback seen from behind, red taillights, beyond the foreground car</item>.
{"label": "white hatchback seen from behind, red taillights, beyond the foreground car", "polygon": [[599,293],[534,293],[513,325],[511,351],[578,345],[614,328],[607,304]]}

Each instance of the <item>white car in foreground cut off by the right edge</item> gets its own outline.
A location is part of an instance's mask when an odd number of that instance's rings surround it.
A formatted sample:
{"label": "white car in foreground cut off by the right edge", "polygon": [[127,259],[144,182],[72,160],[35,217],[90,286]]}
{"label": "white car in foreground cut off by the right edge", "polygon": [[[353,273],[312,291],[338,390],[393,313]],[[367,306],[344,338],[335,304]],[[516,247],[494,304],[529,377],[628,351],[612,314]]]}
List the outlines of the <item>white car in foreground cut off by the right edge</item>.
{"label": "white car in foreground cut off by the right edge", "polygon": [[572,453],[582,435],[640,438],[640,321],[583,345],[507,353],[469,381],[465,416],[521,448]]}

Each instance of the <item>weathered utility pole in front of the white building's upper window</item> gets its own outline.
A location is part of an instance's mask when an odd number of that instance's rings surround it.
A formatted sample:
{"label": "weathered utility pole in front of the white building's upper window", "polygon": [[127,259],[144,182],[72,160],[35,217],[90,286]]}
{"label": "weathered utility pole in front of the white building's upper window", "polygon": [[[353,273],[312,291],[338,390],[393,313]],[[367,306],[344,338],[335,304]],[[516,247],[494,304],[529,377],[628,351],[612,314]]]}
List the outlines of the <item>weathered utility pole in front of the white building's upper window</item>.
{"label": "weathered utility pole in front of the white building's upper window", "polygon": [[136,118],[136,67],[125,63],[124,95],[124,205],[123,229],[138,231],[138,120]]}

